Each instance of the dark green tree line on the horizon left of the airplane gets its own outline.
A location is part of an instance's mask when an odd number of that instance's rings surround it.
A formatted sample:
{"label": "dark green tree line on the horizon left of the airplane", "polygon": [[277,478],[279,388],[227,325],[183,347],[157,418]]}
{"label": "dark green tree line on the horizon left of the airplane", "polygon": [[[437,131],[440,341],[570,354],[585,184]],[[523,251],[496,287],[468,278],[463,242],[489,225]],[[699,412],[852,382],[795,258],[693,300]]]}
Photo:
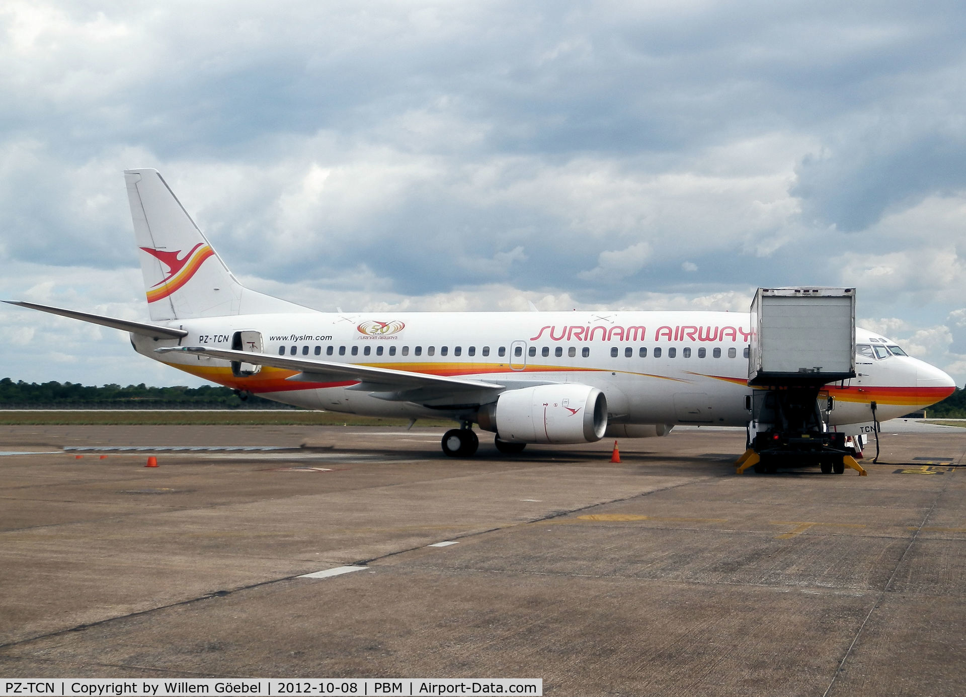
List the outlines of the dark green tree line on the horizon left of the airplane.
{"label": "dark green tree line on the horizon left of the airplane", "polygon": [[295,408],[278,404],[255,395],[242,395],[228,387],[122,387],[107,384],[101,387],[76,382],[14,382],[10,377],[0,379],[0,408]]}

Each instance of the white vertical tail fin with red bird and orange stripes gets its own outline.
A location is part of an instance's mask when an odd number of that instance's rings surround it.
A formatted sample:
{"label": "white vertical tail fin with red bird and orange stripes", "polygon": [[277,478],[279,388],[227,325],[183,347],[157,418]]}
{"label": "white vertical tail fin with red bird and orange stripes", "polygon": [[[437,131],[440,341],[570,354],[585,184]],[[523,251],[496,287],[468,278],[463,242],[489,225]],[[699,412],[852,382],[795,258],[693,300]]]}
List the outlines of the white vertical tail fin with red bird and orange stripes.
{"label": "white vertical tail fin with red bird and orange stripes", "polygon": [[157,170],[124,174],[152,320],[310,312],[244,288]]}

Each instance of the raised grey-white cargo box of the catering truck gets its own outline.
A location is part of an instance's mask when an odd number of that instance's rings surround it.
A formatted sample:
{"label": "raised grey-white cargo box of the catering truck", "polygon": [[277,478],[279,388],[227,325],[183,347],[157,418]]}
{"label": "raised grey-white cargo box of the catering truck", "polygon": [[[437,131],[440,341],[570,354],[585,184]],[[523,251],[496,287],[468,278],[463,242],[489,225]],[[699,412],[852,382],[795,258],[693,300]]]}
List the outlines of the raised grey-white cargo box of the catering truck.
{"label": "raised grey-white cargo box of the catering truck", "polygon": [[759,288],[752,302],[753,385],[816,385],[855,376],[855,289]]}

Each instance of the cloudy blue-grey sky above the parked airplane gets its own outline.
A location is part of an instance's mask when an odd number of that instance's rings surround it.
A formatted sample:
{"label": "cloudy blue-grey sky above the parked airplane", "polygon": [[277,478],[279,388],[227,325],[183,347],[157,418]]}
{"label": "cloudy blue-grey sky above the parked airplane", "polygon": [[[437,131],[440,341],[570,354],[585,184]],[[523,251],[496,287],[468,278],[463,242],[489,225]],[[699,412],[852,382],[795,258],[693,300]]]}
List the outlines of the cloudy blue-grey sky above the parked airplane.
{"label": "cloudy blue-grey sky above the parked airplane", "polygon": [[[146,320],[122,171],[320,310],[855,287],[966,384],[966,5],[0,5],[0,298]],[[963,256],[960,256],[962,252]],[[0,306],[0,376],[201,384]]]}

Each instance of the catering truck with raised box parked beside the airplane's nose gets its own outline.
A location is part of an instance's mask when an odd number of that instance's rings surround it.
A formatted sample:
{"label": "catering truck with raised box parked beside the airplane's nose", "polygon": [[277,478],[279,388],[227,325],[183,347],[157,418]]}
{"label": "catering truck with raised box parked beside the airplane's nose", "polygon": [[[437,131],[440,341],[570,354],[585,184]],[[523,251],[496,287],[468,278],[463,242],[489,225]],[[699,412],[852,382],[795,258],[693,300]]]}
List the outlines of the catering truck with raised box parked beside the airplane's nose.
{"label": "catering truck with raised box parked beside the airplane's nose", "polygon": [[752,301],[749,448],[738,472],[818,465],[865,470],[845,434],[830,431],[822,388],[855,377],[854,288],[759,288]]}

